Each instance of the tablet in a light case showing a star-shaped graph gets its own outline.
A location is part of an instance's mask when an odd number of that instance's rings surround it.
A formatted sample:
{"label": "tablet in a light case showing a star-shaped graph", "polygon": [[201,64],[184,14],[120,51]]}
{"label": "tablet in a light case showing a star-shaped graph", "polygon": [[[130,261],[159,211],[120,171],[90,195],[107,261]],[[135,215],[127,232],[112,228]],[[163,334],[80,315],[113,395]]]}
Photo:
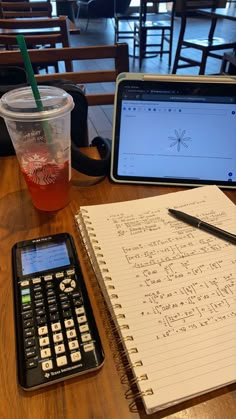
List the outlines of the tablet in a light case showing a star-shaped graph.
{"label": "tablet in a light case showing a star-shaped graph", "polygon": [[114,182],[236,187],[236,78],[122,73]]}

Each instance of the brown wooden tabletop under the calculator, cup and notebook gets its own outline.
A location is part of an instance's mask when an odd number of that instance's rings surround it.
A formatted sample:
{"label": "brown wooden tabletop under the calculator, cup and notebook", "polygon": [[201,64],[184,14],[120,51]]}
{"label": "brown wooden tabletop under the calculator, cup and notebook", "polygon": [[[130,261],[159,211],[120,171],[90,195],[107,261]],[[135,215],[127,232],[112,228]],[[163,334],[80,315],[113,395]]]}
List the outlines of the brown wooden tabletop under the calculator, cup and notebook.
{"label": "brown wooden tabletop under the calculator, cup and notebook", "polygon": [[[96,149],[89,149],[95,154]],[[72,171],[70,204],[57,213],[37,211],[31,204],[16,157],[1,157],[0,183],[0,417],[3,419],[233,419],[236,417],[236,384],[147,416],[141,404],[130,412],[116,367],[114,335],[104,311],[96,279],[89,267],[74,227],[80,205],[100,204],[162,195],[177,189],[163,186],[115,185],[106,178],[91,181]],[[97,180],[97,179],[96,179]],[[236,191],[226,194],[236,202]],[[76,241],[82,269],[100,331],[105,363],[99,372],[67,380],[41,390],[25,392],[16,379],[13,324],[11,248],[17,241],[67,231]],[[114,352],[114,353],[113,353]]]}

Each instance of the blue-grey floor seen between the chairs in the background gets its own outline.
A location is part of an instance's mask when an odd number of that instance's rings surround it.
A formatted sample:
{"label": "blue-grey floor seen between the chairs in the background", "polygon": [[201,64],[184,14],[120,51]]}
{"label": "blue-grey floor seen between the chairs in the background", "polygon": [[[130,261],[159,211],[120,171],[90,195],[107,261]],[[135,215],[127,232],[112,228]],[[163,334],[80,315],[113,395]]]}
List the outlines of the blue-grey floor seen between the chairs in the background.
{"label": "blue-grey floor seen between the chairs in the background", "polygon": [[[71,46],[84,46],[84,45],[107,45],[114,43],[114,26],[112,19],[91,19],[89,21],[88,29],[86,30],[86,19],[76,20],[77,26],[80,28],[81,33],[79,35],[71,36]],[[124,23],[127,25],[127,23]],[[132,24],[132,23],[131,23]],[[209,25],[208,19],[202,18],[191,18],[191,24],[188,29],[188,35],[190,37],[194,36],[204,36],[206,29]],[[178,39],[179,32],[179,18],[175,18],[175,35],[174,35],[174,45],[173,51],[175,51],[176,43]],[[235,22],[222,20],[218,23],[216,29],[216,36],[227,36],[236,38],[236,25]],[[130,53],[130,71],[139,72],[138,60],[132,57],[133,53],[133,43],[131,39],[126,39],[123,42],[127,42],[129,45]],[[174,55],[174,54],[173,54]],[[193,52],[192,57],[196,58],[196,52]],[[94,70],[98,68],[97,66],[100,63],[93,62],[82,62],[79,64],[79,68],[87,68]],[[106,64],[107,65],[107,64]],[[216,59],[208,59],[206,74],[216,74],[220,70],[220,61]],[[156,73],[156,74],[166,74],[171,71],[168,69],[167,56],[164,56],[161,60],[160,57],[155,56],[152,58],[145,58],[143,60],[142,72],[145,73]],[[181,69],[178,71],[178,74],[198,74],[198,69],[188,68]],[[113,88],[113,87],[112,87]],[[112,117],[113,117],[113,107],[112,106],[102,106],[102,107],[92,107],[89,110],[89,138],[90,140],[96,135],[102,135],[108,138],[111,138],[112,131]]]}

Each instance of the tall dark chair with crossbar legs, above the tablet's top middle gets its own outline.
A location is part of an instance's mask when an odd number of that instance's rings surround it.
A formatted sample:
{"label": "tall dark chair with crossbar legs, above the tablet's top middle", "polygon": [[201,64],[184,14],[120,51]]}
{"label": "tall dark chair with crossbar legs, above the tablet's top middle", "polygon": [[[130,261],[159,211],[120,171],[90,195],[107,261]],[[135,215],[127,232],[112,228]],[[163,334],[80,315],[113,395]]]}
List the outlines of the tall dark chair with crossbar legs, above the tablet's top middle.
{"label": "tall dark chair with crossbar legs, above the tablet's top middle", "polygon": [[[168,54],[168,66],[171,67],[172,44],[174,34],[175,0],[168,1],[169,11],[166,13],[148,13],[150,0],[140,1],[139,20],[134,24],[134,56],[136,47],[139,48],[139,67],[141,68],[144,57]],[[165,0],[153,0],[153,5],[158,8]],[[150,41],[149,36],[152,37]],[[153,41],[157,37],[156,41]]]}

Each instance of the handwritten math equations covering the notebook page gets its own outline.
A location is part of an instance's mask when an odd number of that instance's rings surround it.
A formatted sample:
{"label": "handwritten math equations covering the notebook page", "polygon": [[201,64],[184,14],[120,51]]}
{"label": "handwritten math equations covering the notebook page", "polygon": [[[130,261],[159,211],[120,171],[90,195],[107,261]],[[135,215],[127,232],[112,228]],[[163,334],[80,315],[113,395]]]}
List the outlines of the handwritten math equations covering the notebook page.
{"label": "handwritten math equations covering the notebook page", "polygon": [[[208,222],[224,218],[223,211],[205,211]],[[157,339],[236,316],[232,245],[163,216],[159,210],[137,216],[120,213],[109,221],[140,290],[134,295],[140,318],[150,319]]]}

